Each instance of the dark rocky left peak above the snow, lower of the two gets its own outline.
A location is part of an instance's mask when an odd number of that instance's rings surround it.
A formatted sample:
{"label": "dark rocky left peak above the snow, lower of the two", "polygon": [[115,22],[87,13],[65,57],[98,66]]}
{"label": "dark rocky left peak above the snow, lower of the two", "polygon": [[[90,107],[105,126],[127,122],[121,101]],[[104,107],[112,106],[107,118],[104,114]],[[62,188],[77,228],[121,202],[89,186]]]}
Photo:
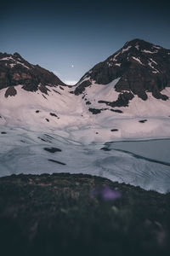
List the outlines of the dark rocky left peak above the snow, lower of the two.
{"label": "dark rocky left peak above the snow, lower of the two", "polygon": [[32,65],[18,53],[8,55],[0,53],[0,90],[9,86],[21,84],[23,89],[36,91],[38,85],[47,94],[48,86],[65,85],[54,73],[38,66]]}

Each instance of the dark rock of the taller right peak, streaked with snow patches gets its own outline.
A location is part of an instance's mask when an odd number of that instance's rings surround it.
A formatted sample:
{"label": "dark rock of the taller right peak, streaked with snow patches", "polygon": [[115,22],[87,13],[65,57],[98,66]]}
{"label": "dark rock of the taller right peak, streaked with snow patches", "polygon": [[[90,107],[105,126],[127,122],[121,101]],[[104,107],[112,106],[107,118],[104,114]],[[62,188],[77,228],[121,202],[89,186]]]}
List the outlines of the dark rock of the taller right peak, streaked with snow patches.
{"label": "dark rock of the taller right peak, streaked with snow patches", "polygon": [[126,107],[127,100],[132,99],[127,95],[127,99],[122,99],[124,91],[144,101],[147,100],[146,92],[151,92],[157,99],[166,101],[168,97],[162,95],[161,90],[170,86],[170,50],[134,39],[86,73],[78,83],[77,88],[82,89],[79,94],[85,90],[83,79],[87,78],[86,83],[94,80],[97,84],[108,84],[120,78],[115,89],[122,95],[116,102],[111,102],[113,108]]}

